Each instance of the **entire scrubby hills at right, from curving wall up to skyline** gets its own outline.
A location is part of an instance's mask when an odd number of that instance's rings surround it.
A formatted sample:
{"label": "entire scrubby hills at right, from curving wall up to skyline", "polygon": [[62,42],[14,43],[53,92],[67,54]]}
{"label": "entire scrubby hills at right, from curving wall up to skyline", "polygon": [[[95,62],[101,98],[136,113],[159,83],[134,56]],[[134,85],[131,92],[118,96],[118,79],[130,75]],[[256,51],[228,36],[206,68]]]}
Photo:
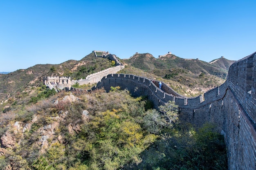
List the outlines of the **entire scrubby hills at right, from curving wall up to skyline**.
{"label": "entire scrubby hills at right, from curving wall up to skyline", "polygon": [[[229,66],[234,61],[225,58],[214,63],[184,59],[168,53],[158,58],[149,53],[136,53],[119,73],[135,74],[165,82],[185,96],[198,96],[225,82]],[[146,75],[146,76],[145,76]]]}

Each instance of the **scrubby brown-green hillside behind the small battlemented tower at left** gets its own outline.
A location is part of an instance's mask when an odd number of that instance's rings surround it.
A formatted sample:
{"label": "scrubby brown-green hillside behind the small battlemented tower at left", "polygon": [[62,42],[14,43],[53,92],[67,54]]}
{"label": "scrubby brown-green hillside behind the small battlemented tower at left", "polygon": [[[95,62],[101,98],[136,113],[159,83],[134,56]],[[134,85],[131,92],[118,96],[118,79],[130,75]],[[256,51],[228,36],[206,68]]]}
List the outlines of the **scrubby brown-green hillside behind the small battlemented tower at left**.
{"label": "scrubby brown-green hillside behind the small battlemented tower at left", "polygon": [[71,76],[72,79],[85,78],[87,75],[112,67],[107,58],[95,57],[90,53],[81,60],[68,60],[61,64],[37,64],[27,69],[19,69],[9,74],[0,74],[0,101],[20,93],[31,92],[31,87],[42,84],[45,76]]}

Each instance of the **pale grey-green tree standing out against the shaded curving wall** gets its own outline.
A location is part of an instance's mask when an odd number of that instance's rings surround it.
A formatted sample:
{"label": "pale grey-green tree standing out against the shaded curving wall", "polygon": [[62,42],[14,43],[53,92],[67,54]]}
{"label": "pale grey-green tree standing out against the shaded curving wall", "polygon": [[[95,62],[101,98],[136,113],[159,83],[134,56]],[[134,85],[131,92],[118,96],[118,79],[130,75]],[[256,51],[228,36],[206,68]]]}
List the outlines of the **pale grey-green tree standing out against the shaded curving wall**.
{"label": "pale grey-green tree standing out against the shaded curving wall", "polygon": [[173,127],[173,123],[178,120],[178,106],[174,101],[168,101],[165,105],[159,106],[159,111],[163,113],[165,126]]}

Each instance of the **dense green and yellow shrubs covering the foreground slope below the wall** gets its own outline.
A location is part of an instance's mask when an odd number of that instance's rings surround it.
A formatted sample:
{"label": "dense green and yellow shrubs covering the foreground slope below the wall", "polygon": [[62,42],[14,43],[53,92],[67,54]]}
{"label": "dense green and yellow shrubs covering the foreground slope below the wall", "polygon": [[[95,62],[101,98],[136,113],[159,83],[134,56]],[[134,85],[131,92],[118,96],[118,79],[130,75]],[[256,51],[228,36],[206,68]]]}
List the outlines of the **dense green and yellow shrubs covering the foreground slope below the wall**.
{"label": "dense green and yellow shrubs covering the foreground slope below the wall", "polygon": [[[22,106],[8,111],[8,119],[0,115],[1,129],[10,131],[8,122],[15,121],[23,126],[30,123],[31,128],[14,132],[17,144],[0,157],[0,166],[9,164],[13,170],[227,169],[223,137],[210,124],[195,130],[178,121],[173,102],[159,112],[145,97],[134,98],[118,89],[73,93],[79,98],[76,102],[63,100],[71,95],[66,92],[45,95],[36,104],[18,102]],[[45,91],[40,88],[36,93]],[[41,146],[43,129],[54,125],[48,146]]]}

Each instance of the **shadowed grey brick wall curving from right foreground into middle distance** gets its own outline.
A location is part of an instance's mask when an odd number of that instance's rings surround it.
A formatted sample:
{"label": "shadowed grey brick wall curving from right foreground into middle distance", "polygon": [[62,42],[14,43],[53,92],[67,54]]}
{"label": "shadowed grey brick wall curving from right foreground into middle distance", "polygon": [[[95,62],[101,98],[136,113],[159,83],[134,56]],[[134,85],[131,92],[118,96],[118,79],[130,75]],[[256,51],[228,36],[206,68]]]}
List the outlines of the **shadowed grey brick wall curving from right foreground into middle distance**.
{"label": "shadowed grey brick wall curving from right foreground into middle distance", "polygon": [[232,64],[224,84],[191,98],[164,83],[161,90],[158,82],[145,77],[114,73],[94,76],[101,80],[92,90],[104,87],[110,91],[111,86],[120,86],[134,96],[148,96],[155,108],[175,101],[181,121],[197,127],[212,122],[225,137],[229,170],[256,169],[256,53]]}

